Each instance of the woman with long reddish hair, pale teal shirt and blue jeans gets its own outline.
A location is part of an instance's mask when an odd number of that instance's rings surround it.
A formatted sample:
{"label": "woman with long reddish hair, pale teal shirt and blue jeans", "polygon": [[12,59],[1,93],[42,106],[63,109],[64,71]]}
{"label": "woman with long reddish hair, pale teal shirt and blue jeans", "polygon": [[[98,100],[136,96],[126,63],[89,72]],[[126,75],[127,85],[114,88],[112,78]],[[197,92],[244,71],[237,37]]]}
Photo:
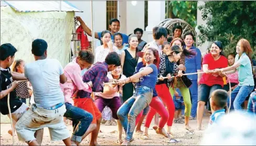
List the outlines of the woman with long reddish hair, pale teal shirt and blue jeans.
{"label": "woman with long reddish hair, pale teal shirt and blue jeans", "polygon": [[[234,73],[238,70],[239,84],[231,92],[231,109],[241,110],[242,103],[249,96],[254,87],[252,59],[251,59],[251,45],[248,40],[241,39],[237,43],[236,58],[232,66],[222,69],[216,69],[218,73]],[[228,99],[229,104],[229,99]]]}

